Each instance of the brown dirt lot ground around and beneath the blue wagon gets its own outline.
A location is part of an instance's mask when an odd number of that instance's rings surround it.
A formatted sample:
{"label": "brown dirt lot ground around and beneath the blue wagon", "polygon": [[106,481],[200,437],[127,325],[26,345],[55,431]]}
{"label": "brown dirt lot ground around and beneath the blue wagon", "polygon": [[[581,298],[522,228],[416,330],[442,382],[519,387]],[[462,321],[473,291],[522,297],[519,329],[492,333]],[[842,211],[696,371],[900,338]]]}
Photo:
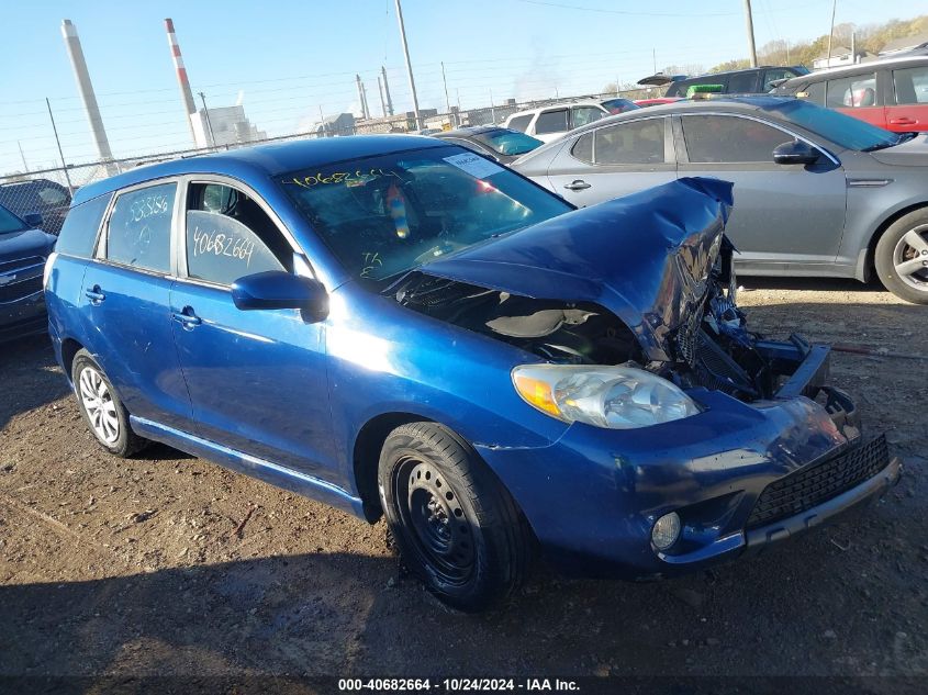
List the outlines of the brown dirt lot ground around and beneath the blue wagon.
{"label": "brown dirt lot ground around and beneath the blue wagon", "polygon": [[[769,335],[928,354],[928,309],[876,288],[746,284]],[[102,453],[46,339],[4,346],[0,674],[928,676],[928,361],[836,354],[832,375],[906,466],[863,515],[672,582],[540,568],[468,617],[399,576],[382,523],[161,446]]]}

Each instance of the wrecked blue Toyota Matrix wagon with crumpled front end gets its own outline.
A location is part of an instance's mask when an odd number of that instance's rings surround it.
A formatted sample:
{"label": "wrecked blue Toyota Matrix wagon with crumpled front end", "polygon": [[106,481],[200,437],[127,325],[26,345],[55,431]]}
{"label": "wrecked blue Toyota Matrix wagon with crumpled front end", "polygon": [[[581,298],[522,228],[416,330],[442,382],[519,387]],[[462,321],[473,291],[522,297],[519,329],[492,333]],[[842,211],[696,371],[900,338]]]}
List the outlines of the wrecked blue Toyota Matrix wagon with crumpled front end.
{"label": "wrecked blue Toyota Matrix wagon with crumpled front end", "polygon": [[574,210],[461,147],[294,142],[81,188],[49,330],[100,445],[161,441],[387,517],[481,610],[536,552],[671,576],[894,484],[828,348],[753,333],[730,183]]}

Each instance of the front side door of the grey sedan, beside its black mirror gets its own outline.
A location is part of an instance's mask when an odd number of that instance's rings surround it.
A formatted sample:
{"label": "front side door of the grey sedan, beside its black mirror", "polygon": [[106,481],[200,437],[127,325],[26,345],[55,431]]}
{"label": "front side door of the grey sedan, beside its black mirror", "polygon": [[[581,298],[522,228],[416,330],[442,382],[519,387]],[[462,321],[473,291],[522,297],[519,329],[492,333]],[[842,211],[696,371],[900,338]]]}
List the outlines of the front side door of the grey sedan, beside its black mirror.
{"label": "front side door of the grey sedan, beside its black mirror", "polygon": [[778,165],[773,149],[794,135],[756,119],[693,114],[680,119],[680,176],[735,184],[726,234],[745,272],[789,264],[834,266],[845,227],[845,171],[824,154],[810,166]]}

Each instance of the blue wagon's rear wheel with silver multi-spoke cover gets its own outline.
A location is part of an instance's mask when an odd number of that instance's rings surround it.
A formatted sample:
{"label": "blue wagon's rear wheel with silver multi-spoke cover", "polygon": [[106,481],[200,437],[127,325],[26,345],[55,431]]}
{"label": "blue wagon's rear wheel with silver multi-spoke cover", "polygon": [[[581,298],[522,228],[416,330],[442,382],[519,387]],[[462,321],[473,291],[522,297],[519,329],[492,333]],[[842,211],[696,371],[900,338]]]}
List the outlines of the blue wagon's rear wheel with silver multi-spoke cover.
{"label": "blue wagon's rear wheel with silver multi-spoke cover", "polygon": [[75,356],[71,381],[80,414],[97,441],[107,451],[125,458],[147,444],[132,431],[128,412],[100,365],[87,350],[78,350]]}

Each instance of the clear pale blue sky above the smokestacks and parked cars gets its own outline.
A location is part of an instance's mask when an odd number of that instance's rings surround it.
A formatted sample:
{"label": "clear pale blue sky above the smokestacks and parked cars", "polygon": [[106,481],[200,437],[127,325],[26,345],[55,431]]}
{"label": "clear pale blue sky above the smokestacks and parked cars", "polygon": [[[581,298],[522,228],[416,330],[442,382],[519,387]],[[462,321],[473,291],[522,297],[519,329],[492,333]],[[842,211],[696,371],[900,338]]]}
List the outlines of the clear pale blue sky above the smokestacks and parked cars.
{"label": "clear pale blue sky above the smokestacks and parked cars", "polygon": [[[831,0],[753,0],[758,47],[828,32]],[[837,0],[836,24],[918,13],[910,1]],[[60,33],[77,26],[115,157],[191,146],[165,34],[171,18],[194,94],[210,108],[239,99],[269,135],[326,115],[359,113],[355,74],[380,115],[385,66],[398,111],[412,109],[394,0],[70,0],[9,2],[0,42],[0,176],[60,166],[96,149]],[[742,0],[403,0],[421,108],[489,105],[594,93],[669,65],[748,55]],[[198,105],[199,105],[199,97]],[[22,148],[22,154],[20,153]]]}

